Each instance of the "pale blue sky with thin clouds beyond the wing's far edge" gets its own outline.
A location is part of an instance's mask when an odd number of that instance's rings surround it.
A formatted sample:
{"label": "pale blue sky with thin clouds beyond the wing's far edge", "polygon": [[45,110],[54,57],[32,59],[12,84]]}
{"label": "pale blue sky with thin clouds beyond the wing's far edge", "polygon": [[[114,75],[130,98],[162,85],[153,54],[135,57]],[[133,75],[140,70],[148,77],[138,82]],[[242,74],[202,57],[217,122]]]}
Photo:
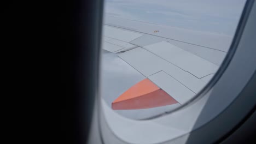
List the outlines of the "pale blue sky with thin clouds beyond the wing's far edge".
{"label": "pale blue sky with thin clouds beyond the wing's far edge", "polygon": [[104,14],[233,35],[246,0],[105,0]]}

